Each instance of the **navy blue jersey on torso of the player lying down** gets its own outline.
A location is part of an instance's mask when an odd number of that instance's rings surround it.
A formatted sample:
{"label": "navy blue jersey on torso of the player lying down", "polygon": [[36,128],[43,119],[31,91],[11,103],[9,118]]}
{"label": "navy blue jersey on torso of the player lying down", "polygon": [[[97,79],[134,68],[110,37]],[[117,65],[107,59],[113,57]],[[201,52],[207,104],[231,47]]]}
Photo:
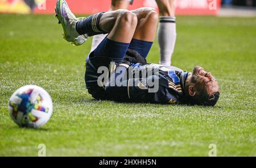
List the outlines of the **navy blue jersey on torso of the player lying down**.
{"label": "navy blue jersey on torso of the player lying down", "polygon": [[[109,94],[109,99],[122,102],[185,103],[184,84],[188,75],[187,72],[174,66],[159,64],[132,64],[131,67],[141,71],[143,69],[154,69],[154,72],[158,72],[158,74],[152,73],[147,77],[142,77],[142,75],[139,75],[139,77],[133,76],[133,78],[127,79],[127,86],[105,86],[105,91]],[[118,74],[116,75],[118,77]],[[150,81],[151,83],[155,81],[152,78],[158,78],[158,87],[156,90],[152,89],[155,86],[148,84]]]}

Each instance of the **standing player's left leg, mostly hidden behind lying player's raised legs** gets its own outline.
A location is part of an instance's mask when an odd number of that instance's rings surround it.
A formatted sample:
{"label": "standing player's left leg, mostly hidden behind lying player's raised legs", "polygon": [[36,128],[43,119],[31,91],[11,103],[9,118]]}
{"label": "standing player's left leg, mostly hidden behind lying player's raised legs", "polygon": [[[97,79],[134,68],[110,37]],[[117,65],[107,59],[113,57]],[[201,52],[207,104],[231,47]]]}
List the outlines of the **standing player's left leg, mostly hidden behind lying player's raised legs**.
{"label": "standing player's left leg, mostly hidden behind lying player's raised legs", "polygon": [[[112,0],[109,11],[114,11],[118,9],[128,9],[130,5],[130,0]],[[107,36],[107,34],[100,34],[93,36],[92,47],[90,48],[90,53],[96,49],[96,47],[101,43],[101,41]],[[86,58],[88,61],[88,57]]]}

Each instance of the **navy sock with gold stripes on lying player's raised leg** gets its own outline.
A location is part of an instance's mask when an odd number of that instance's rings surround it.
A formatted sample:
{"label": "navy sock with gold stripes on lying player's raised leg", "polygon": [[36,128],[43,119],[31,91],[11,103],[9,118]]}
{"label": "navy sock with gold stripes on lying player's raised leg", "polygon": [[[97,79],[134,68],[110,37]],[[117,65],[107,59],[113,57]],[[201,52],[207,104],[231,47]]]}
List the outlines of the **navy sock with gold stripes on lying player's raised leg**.
{"label": "navy sock with gold stripes on lying player's raised leg", "polygon": [[101,33],[105,33],[100,28],[100,19],[104,12],[100,12],[94,15],[90,15],[89,17],[85,18],[76,23],[76,31],[80,35],[88,34],[88,36],[94,36]]}

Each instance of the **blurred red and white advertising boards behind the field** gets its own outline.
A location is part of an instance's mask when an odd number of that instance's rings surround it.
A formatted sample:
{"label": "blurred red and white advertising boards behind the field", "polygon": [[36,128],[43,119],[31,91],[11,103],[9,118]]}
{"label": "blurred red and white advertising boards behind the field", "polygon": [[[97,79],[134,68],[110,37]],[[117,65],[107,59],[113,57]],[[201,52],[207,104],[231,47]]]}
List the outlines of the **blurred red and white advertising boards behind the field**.
{"label": "blurred red and white advertising boards behind the field", "polygon": [[[108,11],[111,0],[67,0],[75,14],[93,14]],[[0,12],[18,14],[53,14],[55,0],[0,0]],[[154,0],[135,0],[130,10],[154,7]],[[256,0],[179,0],[177,15],[255,16]]]}

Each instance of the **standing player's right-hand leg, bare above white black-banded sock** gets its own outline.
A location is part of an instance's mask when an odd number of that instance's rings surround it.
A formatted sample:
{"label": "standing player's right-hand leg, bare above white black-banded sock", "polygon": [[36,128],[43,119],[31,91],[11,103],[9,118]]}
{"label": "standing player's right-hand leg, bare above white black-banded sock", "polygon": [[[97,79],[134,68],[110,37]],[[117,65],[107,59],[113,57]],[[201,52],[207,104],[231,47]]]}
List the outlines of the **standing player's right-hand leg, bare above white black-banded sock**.
{"label": "standing player's right-hand leg, bare above white black-banded sock", "polygon": [[171,65],[171,57],[176,42],[174,0],[155,0],[159,8],[158,41],[160,64]]}

